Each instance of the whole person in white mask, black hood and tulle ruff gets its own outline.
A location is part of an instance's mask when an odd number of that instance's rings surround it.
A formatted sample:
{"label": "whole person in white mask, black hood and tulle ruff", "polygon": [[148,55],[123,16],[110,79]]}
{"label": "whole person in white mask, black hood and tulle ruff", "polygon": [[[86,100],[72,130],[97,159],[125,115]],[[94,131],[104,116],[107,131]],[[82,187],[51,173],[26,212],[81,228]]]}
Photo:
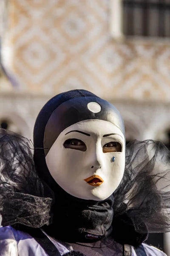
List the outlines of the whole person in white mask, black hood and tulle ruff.
{"label": "whole person in white mask, black hood and tulle ruff", "polygon": [[0,132],[0,256],[164,256],[148,232],[170,230],[170,152],[125,146],[119,111],[86,90],[60,93],[26,138]]}

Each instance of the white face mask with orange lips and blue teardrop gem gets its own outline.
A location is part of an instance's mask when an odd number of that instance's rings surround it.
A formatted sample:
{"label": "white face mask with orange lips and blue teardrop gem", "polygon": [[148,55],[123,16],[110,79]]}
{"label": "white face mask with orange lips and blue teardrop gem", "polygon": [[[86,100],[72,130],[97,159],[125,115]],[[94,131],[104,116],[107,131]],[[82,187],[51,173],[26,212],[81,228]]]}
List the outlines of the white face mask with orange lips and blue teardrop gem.
{"label": "white face mask with orange lips and blue teardrop gem", "polygon": [[45,160],[51,176],[70,195],[105,200],[124,174],[125,137],[108,121],[77,122],[59,134]]}

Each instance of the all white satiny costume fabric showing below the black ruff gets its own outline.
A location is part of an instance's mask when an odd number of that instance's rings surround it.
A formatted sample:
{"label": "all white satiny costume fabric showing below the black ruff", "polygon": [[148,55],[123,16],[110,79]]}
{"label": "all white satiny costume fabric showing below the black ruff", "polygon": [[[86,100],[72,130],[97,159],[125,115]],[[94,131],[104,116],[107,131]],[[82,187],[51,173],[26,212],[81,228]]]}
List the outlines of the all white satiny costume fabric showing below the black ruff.
{"label": "all white satiny costume fabric showing below the black ruff", "polygon": [[[57,247],[61,256],[69,252],[62,244],[49,236],[48,238]],[[143,246],[147,256],[166,256],[155,247],[147,244]],[[0,256],[48,256],[48,254],[29,234],[8,226],[0,228]],[[125,245],[125,256],[137,256],[133,246]]]}

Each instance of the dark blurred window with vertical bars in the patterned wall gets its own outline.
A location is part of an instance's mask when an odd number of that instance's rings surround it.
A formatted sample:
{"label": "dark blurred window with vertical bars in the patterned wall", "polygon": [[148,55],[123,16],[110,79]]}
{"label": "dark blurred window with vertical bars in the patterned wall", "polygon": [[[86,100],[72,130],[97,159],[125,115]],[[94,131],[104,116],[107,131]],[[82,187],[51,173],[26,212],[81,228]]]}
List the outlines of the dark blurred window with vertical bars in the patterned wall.
{"label": "dark blurred window with vertical bars in the patterned wall", "polygon": [[170,37],[170,0],[123,0],[123,33]]}

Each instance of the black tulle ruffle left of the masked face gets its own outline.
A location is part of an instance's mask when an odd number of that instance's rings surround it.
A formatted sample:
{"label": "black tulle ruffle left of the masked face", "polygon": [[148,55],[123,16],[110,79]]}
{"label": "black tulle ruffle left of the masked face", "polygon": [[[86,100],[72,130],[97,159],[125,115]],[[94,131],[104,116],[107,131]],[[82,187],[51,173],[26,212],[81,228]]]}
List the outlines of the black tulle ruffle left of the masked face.
{"label": "black tulle ruffle left of the masked face", "polygon": [[31,143],[0,129],[0,214],[3,226],[49,224],[52,195],[34,168]]}

